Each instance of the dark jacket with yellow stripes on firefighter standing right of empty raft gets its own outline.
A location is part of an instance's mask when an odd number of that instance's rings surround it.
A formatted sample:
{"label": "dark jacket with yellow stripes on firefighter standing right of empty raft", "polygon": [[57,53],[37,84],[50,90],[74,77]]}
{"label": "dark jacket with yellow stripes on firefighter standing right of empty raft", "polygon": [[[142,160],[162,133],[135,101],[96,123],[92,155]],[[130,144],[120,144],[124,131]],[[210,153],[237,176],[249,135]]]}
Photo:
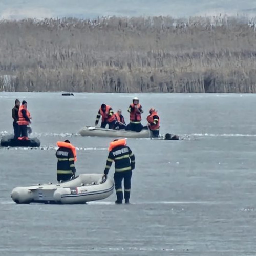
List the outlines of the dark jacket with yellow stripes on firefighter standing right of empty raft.
{"label": "dark jacket with yellow stripes on firefighter standing right of empty raft", "polygon": [[113,161],[115,161],[116,172],[124,172],[135,168],[135,156],[128,146],[117,146],[110,151],[106,160],[104,174],[109,173]]}

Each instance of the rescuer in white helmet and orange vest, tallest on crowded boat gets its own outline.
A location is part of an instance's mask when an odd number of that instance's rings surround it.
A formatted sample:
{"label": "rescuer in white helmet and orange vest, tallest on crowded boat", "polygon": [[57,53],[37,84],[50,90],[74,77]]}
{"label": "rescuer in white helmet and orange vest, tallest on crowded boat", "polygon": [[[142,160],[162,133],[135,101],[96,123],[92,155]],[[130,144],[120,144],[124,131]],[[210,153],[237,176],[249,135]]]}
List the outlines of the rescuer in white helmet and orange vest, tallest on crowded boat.
{"label": "rescuer in white helmet and orange vest, tallest on crowded boat", "polygon": [[137,97],[133,98],[133,103],[129,106],[128,112],[130,113],[130,123],[125,127],[125,130],[140,132],[143,129],[143,125],[140,123],[143,109]]}

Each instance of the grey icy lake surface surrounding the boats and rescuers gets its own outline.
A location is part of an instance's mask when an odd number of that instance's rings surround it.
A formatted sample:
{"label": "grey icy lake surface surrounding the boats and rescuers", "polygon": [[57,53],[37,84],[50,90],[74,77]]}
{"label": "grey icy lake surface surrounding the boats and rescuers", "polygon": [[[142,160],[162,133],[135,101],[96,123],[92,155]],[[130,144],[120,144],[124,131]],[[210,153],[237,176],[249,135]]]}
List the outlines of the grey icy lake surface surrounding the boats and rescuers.
{"label": "grey icy lake surface surrounding the boats and rescuers", "polygon": [[[81,137],[102,102],[154,106],[161,133],[128,139],[136,156],[130,205],[115,193],[87,205],[18,205],[16,186],[56,181],[56,142],[78,147],[77,174],[102,173],[111,138]],[[0,93],[0,133],[26,100],[38,149],[0,148],[0,255],[255,255],[256,95]],[[112,167],[110,175],[113,175]]]}

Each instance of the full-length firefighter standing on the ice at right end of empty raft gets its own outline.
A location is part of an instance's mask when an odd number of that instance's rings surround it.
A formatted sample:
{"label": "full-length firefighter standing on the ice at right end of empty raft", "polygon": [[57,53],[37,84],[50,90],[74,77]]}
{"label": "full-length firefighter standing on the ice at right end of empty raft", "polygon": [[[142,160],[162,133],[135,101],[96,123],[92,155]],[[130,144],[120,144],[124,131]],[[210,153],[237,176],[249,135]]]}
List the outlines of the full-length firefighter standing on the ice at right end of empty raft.
{"label": "full-length firefighter standing on the ice at right end of empty raft", "polygon": [[124,199],[128,204],[130,200],[132,170],[135,169],[135,156],[131,148],[126,146],[126,140],[114,140],[110,143],[109,156],[106,160],[104,176],[107,176],[112,165],[115,162],[115,189],[116,189],[116,204],[121,204],[123,201],[122,180],[124,179]]}

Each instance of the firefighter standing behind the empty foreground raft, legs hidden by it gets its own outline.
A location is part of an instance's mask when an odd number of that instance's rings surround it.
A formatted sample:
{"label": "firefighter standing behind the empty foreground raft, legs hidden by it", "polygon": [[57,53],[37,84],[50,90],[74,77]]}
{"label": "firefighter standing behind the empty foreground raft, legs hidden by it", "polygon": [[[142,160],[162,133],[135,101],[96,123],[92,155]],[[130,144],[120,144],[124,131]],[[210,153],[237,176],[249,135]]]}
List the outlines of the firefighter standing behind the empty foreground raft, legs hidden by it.
{"label": "firefighter standing behind the empty foreground raft, legs hidden by it", "polygon": [[69,140],[65,140],[64,142],[58,141],[57,146],[59,147],[55,154],[58,159],[57,181],[67,181],[75,177],[76,174],[76,148]]}

